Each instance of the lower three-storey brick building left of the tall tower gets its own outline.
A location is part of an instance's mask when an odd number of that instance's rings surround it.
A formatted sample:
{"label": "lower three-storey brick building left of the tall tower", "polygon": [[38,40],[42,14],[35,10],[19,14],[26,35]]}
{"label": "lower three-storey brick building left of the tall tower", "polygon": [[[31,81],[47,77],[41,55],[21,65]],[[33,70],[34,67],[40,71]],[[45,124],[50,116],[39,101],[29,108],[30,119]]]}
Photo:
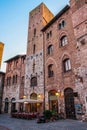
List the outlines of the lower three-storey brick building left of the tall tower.
{"label": "lower three-storey brick building left of the tall tower", "polygon": [[5,61],[7,65],[2,108],[5,113],[20,110],[22,107],[21,103],[13,103],[13,101],[24,96],[25,58],[26,55],[17,55]]}

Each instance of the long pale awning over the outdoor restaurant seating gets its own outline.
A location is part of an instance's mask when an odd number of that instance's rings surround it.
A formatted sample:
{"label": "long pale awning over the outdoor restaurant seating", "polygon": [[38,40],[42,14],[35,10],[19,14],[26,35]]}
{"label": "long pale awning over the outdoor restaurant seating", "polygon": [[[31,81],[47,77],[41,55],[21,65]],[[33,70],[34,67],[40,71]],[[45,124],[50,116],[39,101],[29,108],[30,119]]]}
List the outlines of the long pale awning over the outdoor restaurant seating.
{"label": "long pale awning over the outdoor restaurant seating", "polygon": [[18,99],[18,100],[15,100],[15,101],[12,101],[12,103],[42,103],[43,100],[34,100],[34,99]]}

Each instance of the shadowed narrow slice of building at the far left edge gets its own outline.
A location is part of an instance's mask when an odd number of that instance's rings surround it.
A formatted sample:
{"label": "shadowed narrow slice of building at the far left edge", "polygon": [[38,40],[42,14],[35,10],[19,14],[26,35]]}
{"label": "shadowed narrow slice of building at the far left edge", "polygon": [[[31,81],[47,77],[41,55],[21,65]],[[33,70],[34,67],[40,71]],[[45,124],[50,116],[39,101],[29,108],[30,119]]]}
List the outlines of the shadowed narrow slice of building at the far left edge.
{"label": "shadowed narrow slice of building at the far left edge", "polygon": [[5,79],[5,73],[0,71],[0,113],[1,113],[1,108],[2,108],[4,79]]}

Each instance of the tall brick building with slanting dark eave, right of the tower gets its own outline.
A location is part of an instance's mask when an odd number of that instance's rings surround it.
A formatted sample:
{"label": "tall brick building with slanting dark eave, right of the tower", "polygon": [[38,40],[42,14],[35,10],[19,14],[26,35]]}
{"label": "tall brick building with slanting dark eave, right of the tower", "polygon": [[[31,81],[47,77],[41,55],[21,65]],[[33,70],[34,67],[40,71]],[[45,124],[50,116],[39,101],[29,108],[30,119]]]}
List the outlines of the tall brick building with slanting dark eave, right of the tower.
{"label": "tall brick building with slanting dark eave, right of the tower", "polygon": [[[66,111],[67,118],[71,116],[74,118],[75,40],[70,7],[65,6],[42,31],[45,39],[46,106],[58,113]],[[64,95],[66,95],[65,98]],[[72,98],[73,107],[68,104],[70,98]]]}

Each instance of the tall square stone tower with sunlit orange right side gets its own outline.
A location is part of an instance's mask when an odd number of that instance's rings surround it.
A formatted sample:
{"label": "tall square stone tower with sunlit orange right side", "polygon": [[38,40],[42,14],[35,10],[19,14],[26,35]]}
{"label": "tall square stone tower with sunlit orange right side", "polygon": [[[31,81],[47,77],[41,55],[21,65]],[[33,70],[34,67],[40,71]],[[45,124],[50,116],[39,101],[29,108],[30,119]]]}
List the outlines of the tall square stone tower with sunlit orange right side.
{"label": "tall square stone tower with sunlit orange right side", "polygon": [[41,29],[53,18],[53,14],[41,3],[29,14],[25,95],[28,99],[32,94],[43,96],[43,34]]}

